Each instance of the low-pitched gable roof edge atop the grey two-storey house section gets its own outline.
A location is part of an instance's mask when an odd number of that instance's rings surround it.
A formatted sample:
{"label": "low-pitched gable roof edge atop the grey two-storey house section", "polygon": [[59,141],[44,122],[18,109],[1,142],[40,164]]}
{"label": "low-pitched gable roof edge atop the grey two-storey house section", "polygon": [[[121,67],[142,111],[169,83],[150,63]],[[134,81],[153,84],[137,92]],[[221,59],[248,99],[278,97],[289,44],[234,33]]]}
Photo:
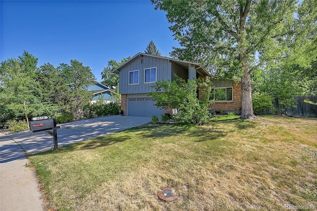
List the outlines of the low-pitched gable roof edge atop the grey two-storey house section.
{"label": "low-pitched gable roof edge atop the grey two-storey house section", "polygon": [[206,75],[211,75],[201,63],[192,62],[192,61],[185,61],[185,60],[180,60],[180,59],[177,59],[177,58],[170,58],[170,57],[159,56],[159,55],[152,55],[152,54],[147,54],[147,53],[137,53],[137,54],[135,54],[135,55],[132,56],[129,60],[127,60],[126,62],[124,62],[123,64],[121,64],[121,65],[118,66],[117,68],[115,68],[112,72],[118,74],[119,71],[120,71],[120,69],[121,69],[123,66],[127,65],[128,63],[130,63],[131,61],[133,61],[135,58],[137,58],[137,57],[143,57],[143,56],[150,56],[150,57],[155,57],[155,58],[167,59],[167,60],[170,60],[170,61],[174,61],[174,62],[176,62],[176,63],[194,64],[194,65],[198,66],[198,67],[196,68],[196,70],[197,70],[197,69],[201,69],[202,72],[205,73]]}

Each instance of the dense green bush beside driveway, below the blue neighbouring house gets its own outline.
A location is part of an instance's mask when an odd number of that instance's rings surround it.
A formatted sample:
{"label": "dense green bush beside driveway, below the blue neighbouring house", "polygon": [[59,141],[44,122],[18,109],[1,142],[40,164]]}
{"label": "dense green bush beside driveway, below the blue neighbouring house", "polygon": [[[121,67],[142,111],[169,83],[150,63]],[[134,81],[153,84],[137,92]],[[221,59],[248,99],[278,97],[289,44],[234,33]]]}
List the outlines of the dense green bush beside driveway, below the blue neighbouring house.
{"label": "dense green bush beside driveway, below the blue neighbouring house", "polygon": [[108,115],[120,114],[121,107],[117,103],[103,104],[103,102],[97,102],[95,104],[88,104],[84,106],[83,114],[84,118],[96,118]]}

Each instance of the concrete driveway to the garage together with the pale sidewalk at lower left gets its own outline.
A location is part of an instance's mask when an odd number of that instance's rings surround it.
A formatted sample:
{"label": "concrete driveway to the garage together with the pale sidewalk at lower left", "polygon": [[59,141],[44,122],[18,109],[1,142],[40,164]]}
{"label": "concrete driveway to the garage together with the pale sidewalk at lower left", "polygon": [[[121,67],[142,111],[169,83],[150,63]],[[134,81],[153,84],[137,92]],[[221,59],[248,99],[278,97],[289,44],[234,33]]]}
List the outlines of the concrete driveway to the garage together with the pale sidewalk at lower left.
{"label": "concrete driveway to the garage together with the pale sidewalk at lower left", "polygon": [[[149,117],[112,115],[59,124],[58,147],[151,122]],[[0,210],[41,211],[42,200],[34,172],[25,167],[25,154],[51,150],[53,137],[45,132],[0,134]]]}

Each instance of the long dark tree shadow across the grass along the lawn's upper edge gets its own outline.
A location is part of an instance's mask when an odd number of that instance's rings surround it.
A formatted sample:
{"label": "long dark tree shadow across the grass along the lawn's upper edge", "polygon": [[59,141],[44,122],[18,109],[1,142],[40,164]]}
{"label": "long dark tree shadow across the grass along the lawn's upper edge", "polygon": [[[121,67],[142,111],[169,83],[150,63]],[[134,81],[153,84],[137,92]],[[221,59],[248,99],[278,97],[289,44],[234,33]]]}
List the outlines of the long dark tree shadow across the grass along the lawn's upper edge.
{"label": "long dark tree shadow across the grass along the lawn's upper edge", "polygon": [[[147,138],[147,139],[160,139],[171,137],[174,138],[182,138],[188,137],[195,142],[206,142],[219,140],[227,136],[230,132],[235,131],[235,129],[226,130],[221,129],[221,127],[225,127],[226,123],[233,124],[237,130],[247,130],[249,128],[256,127],[259,123],[254,121],[246,121],[240,119],[230,119],[230,120],[222,120],[211,122],[207,126],[197,126],[197,125],[174,125],[174,124],[166,124],[166,125],[143,125],[134,127],[124,132],[121,131],[120,136],[118,135],[105,135],[96,137],[90,140],[74,143],[71,145],[67,145],[61,147],[57,150],[58,153],[66,153],[74,150],[93,150],[97,148],[102,148],[106,146],[110,146],[113,144],[121,143],[127,140],[135,139],[135,138]],[[220,128],[214,128],[213,126],[221,125]],[[129,135],[129,133],[133,133]],[[139,137],[138,137],[139,136]],[[47,151],[46,153],[52,153],[53,151]]]}

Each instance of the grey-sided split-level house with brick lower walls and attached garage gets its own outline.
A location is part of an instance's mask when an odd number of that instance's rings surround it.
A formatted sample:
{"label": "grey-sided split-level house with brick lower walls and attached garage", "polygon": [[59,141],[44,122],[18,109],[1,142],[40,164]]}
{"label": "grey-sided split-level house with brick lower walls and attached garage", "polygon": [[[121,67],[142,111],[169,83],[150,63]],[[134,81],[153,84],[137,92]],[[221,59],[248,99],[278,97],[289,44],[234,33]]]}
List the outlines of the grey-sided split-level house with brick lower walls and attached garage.
{"label": "grey-sided split-level house with brick lower walls and attached garage", "polygon": [[[146,53],[137,53],[113,72],[119,74],[119,94],[124,115],[145,117],[172,112],[172,109],[154,106],[155,102],[148,97],[148,93],[155,91],[151,87],[155,82],[174,81],[175,74],[185,80],[210,75],[200,63]],[[241,80],[214,78],[212,82],[216,103],[211,106],[211,110],[239,112],[242,102]]]}

